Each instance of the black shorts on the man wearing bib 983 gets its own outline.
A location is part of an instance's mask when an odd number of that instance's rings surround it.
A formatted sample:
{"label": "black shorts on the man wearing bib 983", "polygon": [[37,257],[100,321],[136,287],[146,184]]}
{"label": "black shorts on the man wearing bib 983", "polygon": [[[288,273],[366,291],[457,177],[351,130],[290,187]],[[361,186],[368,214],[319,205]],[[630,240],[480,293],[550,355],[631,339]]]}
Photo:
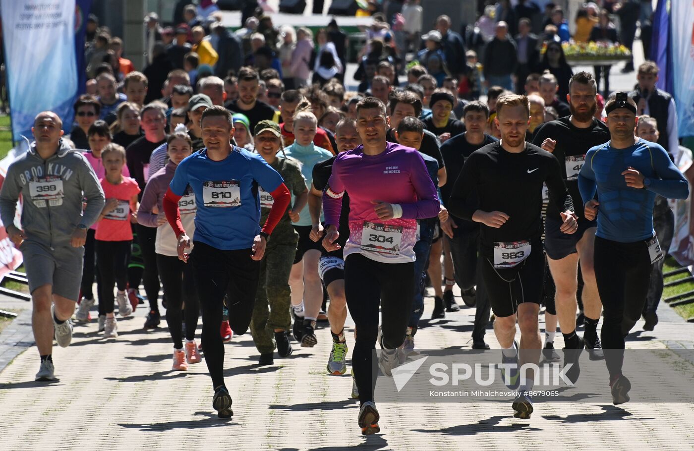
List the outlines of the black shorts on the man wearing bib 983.
{"label": "black shorts on the man wearing bib 983", "polygon": [[518,310],[518,304],[540,304],[545,281],[545,254],[540,241],[532,244],[530,255],[513,268],[494,268],[492,249],[480,252],[478,268],[489,296],[491,311],[504,318]]}

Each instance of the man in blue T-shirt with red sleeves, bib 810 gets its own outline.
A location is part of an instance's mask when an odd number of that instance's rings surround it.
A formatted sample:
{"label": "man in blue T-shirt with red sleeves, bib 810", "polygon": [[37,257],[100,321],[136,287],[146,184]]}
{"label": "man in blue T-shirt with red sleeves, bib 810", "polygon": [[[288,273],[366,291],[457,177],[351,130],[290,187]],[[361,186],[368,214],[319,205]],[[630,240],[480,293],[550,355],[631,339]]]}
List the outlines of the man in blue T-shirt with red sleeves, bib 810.
{"label": "man in blue T-shirt with red sleeves, bib 810", "polygon": [[[224,384],[224,346],[219,337],[221,304],[225,295],[231,328],[244,334],[251,323],[266,239],[289,205],[289,190],[282,177],[260,155],[231,146],[234,135],[231,113],[219,105],[208,108],[201,119],[205,148],[176,168],[162,207],[178,237],[178,258],[193,265],[198,298],[203,309],[202,340],[205,361],[212,377],[212,406],[220,418],[229,418],[231,396]],[[265,225],[260,228],[262,186],[274,199]],[[191,187],[197,206],[195,248],[180,219],[178,201]]]}

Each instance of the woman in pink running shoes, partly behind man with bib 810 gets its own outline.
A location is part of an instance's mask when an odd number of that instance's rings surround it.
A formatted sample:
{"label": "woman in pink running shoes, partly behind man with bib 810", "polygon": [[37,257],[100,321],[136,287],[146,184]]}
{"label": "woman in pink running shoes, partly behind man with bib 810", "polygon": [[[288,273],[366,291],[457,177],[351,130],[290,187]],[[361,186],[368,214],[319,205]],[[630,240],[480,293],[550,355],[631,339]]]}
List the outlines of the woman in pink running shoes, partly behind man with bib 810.
{"label": "woman in pink running shoes, partly behind man with bib 810", "polygon": [[[142,203],[137,210],[137,222],[147,227],[157,228],[155,252],[157,253],[157,269],[164,286],[164,296],[167,296],[167,324],[171,340],[174,342],[174,356],[171,369],[185,371],[189,364],[202,361],[195,342],[195,330],[198,327],[200,305],[195,289],[193,268],[178,259],[176,236],[167,224],[164,216],[164,194],[174,178],[176,167],[192,151],[192,139],[183,124],[178,124],[174,133],[167,139],[169,162],[166,167],[157,171],[147,182],[142,195]],[[195,195],[188,188],[185,196],[178,201],[183,227],[194,232],[196,204]],[[185,309],[183,305],[185,303]],[[182,327],[185,316],[185,348],[183,347]]]}

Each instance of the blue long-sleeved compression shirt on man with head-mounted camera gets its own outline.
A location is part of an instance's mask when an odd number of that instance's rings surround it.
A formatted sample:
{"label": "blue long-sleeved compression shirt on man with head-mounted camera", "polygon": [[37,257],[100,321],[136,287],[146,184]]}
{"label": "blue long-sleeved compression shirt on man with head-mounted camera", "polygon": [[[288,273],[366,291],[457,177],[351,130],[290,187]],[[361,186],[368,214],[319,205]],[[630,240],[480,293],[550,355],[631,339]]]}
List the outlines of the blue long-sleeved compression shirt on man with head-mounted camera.
{"label": "blue long-sleeved compression shirt on man with head-mounted camera", "polygon": [[[650,180],[645,189],[627,187],[622,173],[634,167]],[[638,139],[633,146],[613,148],[611,141],[586,153],[578,176],[583,203],[598,191],[598,231],[595,235],[632,243],[653,236],[653,204],[656,194],[684,199],[689,185],[659,144]]]}

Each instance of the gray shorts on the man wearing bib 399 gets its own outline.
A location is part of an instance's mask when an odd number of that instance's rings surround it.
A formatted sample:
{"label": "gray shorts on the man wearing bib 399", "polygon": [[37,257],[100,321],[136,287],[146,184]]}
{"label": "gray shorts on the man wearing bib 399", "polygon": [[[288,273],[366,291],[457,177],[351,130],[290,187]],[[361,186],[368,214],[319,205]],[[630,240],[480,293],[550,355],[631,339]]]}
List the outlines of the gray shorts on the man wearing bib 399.
{"label": "gray shorts on the man wearing bib 399", "polygon": [[85,248],[62,246],[51,250],[35,241],[19,246],[24,256],[24,268],[29,291],[43,285],[53,285],[53,294],[77,301],[82,280]]}

